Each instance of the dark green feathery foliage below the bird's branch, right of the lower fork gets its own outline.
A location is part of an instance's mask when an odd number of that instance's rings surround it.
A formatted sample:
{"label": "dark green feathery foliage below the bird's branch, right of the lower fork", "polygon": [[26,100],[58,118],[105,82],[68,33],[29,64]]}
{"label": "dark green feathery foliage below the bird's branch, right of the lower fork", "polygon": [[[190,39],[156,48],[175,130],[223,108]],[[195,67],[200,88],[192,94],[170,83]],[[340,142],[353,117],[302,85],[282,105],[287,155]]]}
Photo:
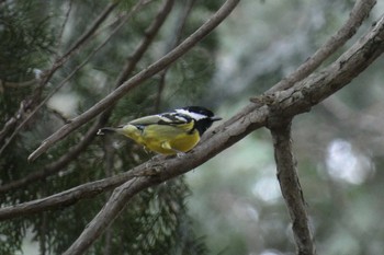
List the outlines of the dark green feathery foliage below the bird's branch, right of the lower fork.
{"label": "dark green feathery foliage below the bird's branch, right of the lower fork", "polygon": [[142,193],[106,231],[111,235],[104,234],[93,251],[102,254],[109,237],[110,254],[204,254],[205,245],[195,240],[187,217],[185,196],[189,189],[183,178]]}

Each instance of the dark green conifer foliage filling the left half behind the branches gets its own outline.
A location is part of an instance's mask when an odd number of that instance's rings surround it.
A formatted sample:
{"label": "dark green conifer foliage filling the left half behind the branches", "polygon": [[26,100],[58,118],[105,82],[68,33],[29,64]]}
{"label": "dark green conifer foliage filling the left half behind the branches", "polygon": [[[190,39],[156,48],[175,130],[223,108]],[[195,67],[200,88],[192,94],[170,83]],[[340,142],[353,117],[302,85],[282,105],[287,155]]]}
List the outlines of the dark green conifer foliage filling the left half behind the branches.
{"label": "dark green conifer foliage filling the left half behind the branches", "polygon": [[[136,1],[122,2],[123,4],[115,9],[105,24],[113,24],[118,16],[129,11],[136,3]],[[33,69],[50,68],[52,60],[57,59],[78,42],[108,3],[110,1],[71,1],[70,7],[69,2],[61,1],[49,3],[7,1],[1,3],[1,81],[33,80],[35,79]],[[136,11],[127,24],[113,35],[111,40],[19,131],[0,158],[1,185],[35,173],[44,175],[52,171],[53,163],[81,142],[93,123],[79,128],[33,164],[26,162],[27,155],[39,146],[42,140],[68,121],[69,117],[84,112],[116,86],[116,78],[126,61],[129,60],[138,42],[145,36],[146,28],[153,22],[161,4],[161,1],[153,1],[145,4],[143,11]],[[70,8],[68,21],[63,26],[67,19],[68,8]],[[205,11],[204,4],[200,4],[193,12],[195,11]],[[201,19],[200,22],[204,20]],[[194,22],[196,25],[197,20]],[[189,31],[190,26],[190,24],[187,25]],[[65,30],[61,34],[63,27]],[[41,91],[36,89],[37,83],[20,88],[1,88],[3,89],[0,91],[2,126],[16,115],[21,102],[34,102],[31,105],[33,108],[35,103],[48,95],[53,88],[82,63],[90,54],[93,54],[93,50],[104,42],[113,28],[114,25],[103,25],[99,28],[97,35],[79,48],[76,55],[71,56],[65,66],[55,72],[49,83],[41,88]],[[142,70],[143,67],[167,53],[166,45],[169,38],[165,31],[166,28],[156,36],[155,43],[136,66],[134,72]],[[214,47],[215,43],[214,39],[210,44],[203,43],[170,69],[167,73],[165,92],[159,92],[159,79],[155,77],[116,102],[109,125],[116,126],[129,119],[153,114],[154,102],[158,98],[161,108],[165,109],[184,106],[184,101],[196,102],[204,91],[200,88],[214,72],[212,60],[214,56],[208,54],[207,48]],[[210,65],[206,65],[207,62]],[[168,93],[178,94],[174,97],[181,100],[173,100],[173,96],[167,96]],[[65,98],[71,98],[71,101],[59,104],[57,102],[60,96],[67,96]],[[171,103],[168,100],[174,102]],[[74,111],[68,112],[67,108],[74,108]],[[27,109],[30,111],[29,107]],[[12,126],[12,130],[15,127],[16,125]],[[9,132],[9,136],[11,134],[12,131]],[[105,178],[128,171],[149,157],[150,154],[142,147],[124,138],[95,137],[93,142],[65,167],[57,169],[53,174],[47,174],[19,189],[1,194],[1,206],[47,197],[81,184]],[[101,194],[74,205],[64,205],[63,208],[0,222],[0,254],[14,254],[22,251],[26,232],[32,232],[33,241],[36,247],[38,246],[41,254],[63,253],[100,211],[109,196],[110,193]],[[204,239],[196,237],[192,220],[188,216],[185,206],[188,196],[190,196],[190,190],[183,178],[173,179],[138,194],[105,231],[105,234],[94,243],[89,254],[105,254],[106,251],[110,254],[206,254]]]}

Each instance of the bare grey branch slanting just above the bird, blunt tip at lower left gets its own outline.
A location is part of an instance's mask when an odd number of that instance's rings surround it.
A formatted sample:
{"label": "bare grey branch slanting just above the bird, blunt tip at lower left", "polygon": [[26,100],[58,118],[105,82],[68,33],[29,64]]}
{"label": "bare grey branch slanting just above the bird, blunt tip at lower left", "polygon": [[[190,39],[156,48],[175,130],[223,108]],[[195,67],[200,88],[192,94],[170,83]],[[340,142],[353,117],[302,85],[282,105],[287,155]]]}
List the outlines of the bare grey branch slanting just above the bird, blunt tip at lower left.
{"label": "bare grey branch slanting just above the bird, blunt tip at lower left", "polygon": [[128,81],[124,82],[118,89],[101,100],[98,104],[90,109],[76,117],[70,124],[63,126],[58,131],[45,139],[43,143],[29,157],[29,161],[35,160],[38,155],[48,150],[57,141],[64,139],[71,131],[76,130],[98,114],[113,105],[117,100],[123,97],[129,90],[137,86],[143,81],[149,79],[154,74],[158,73],[162,69],[167,68],[170,63],[174,62],[188,50],[190,50],[196,43],[210,34],[229,13],[235,9],[239,0],[227,0],[222,8],[197,31],[182,42],[177,48],[163,56],[158,61],[150,65]]}

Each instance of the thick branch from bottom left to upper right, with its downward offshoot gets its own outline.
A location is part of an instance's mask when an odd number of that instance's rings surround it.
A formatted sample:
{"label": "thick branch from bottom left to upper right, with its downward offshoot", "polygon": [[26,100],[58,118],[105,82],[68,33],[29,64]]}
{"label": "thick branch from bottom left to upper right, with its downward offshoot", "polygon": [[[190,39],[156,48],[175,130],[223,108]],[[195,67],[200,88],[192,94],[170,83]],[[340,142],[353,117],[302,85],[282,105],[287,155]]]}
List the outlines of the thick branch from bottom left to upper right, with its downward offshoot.
{"label": "thick branch from bottom left to upper right, with its downward offshoot", "polygon": [[[229,125],[223,124],[217,127],[212,132],[215,135],[211,135],[205,142],[197,146],[183,158],[160,159],[160,161],[151,160],[145,164],[147,172],[148,170],[153,170],[153,175],[148,176],[148,174],[143,172],[143,174],[137,174],[136,177],[116,188],[108,204],[93,218],[88,228],[83,230],[81,235],[65,254],[81,254],[84,252],[113,222],[129,198],[138,192],[194,169],[261,126],[272,127],[276,147],[276,160],[280,167],[280,179],[282,187],[284,187],[283,192],[289,198],[290,210],[293,205],[295,207],[290,213],[293,219],[293,229],[296,235],[298,252],[300,254],[314,254],[315,248],[312,243],[302,193],[297,183],[297,176],[292,172],[292,170],[295,170],[295,166],[290,143],[291,117],[319,103],[329,95],[330,91],[335,93],[337,90],[347,85],[353,77],[362,72],[383,50],[384,18],[377,22],[376,26],[361,42],[352,46],[324,72],[308,77],[302,84],[292,88],[293,91],[290,94],[287,94],[287,91],[276,93],[273,101],[274,103],[279,103],[279,105],[259,106],[255,104],[256,108],[253,111],[250,111],[250,107],[246,107],[237,114],[237,116],[242,116],[240,117],[241,121]],[[327,79],[328,77],[329,79]],[[298,90],[301,90],[301,94],[297,94]],[[274,126],[274,120],[279,119],[289,120],[285,123],[285,126]],[[297,186],[291,190],[293,185]],[[290,197],[291,192],[294,194],[293,198]]]}

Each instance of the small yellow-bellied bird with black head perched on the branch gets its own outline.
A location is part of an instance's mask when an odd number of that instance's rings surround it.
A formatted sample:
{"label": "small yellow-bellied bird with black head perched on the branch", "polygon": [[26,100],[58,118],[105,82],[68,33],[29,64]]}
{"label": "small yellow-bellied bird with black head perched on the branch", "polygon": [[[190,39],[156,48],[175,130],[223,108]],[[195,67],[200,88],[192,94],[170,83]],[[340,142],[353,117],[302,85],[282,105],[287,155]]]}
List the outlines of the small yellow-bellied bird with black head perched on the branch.
{"label": "small yellow-bellied bird with black head perched on the branch", "polygon": [[116,128],[104,127],[99,129],[98,135],[117,132],[144,146],[145,149],[172,155],[193,149],[206,129],[221,119],[202,106],[187,106],[137,118]]}

